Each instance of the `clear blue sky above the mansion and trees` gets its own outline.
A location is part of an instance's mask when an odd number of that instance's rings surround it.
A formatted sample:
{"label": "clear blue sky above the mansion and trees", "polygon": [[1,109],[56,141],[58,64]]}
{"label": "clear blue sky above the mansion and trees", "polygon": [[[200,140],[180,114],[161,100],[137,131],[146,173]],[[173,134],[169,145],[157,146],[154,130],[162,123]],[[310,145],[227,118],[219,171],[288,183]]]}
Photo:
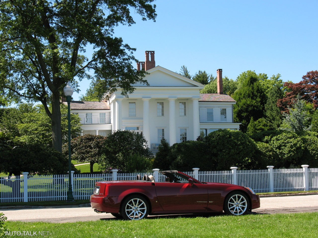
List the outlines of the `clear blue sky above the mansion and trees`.
{"label": "clear blue sky above the mansion and trees", "polygon": [[[156,65],[179,72],[187,66],[236,79],[255,70],[268,77],[298,83],[308,71],[318,70],[318,1],[208,1],[157,0],[156,22],[142,21],[118,26],[121,36],[145,60],[145,51],[155,51]],[[133,63],[136,67],[135,63]],[[89,82],[80,82],[79,94]]]}

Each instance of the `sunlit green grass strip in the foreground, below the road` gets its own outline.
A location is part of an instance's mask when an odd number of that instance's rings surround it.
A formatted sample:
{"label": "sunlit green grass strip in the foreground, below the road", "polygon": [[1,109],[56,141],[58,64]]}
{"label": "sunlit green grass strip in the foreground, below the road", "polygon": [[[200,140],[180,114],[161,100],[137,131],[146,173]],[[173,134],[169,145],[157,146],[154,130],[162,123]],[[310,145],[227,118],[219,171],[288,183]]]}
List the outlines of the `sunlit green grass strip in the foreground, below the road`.
{"label": "sunlit green grass strip in the foreground, below the road", "polygon": [[[181,216],[123,221],[105,219],[75,223],[13,222],[10,231],[48,231],[48,237],[317,237],[318,213],[245,216]],[[21,236],[21,235],[20,235]],[[20,237],[13,236],[10,237]],[[9,237],[9,236],[8,236]]]}

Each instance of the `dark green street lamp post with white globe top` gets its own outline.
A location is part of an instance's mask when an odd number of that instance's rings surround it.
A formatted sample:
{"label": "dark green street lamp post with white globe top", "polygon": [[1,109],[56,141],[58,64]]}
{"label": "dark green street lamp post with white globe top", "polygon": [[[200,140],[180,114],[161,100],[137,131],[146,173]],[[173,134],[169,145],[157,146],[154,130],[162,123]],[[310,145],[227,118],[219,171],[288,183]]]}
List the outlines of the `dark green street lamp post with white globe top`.
{"label": "dark green street lamp post with white globe top", "polygon": [[71,175],[71,101],[73,95],[73,87],[70,82],[67,82],[64,87],[64,94],[67,101],[67,120],[68,120],[68,191],[67,191],[67,202],[74,201],[73,190],[72,190],[72,175]]}

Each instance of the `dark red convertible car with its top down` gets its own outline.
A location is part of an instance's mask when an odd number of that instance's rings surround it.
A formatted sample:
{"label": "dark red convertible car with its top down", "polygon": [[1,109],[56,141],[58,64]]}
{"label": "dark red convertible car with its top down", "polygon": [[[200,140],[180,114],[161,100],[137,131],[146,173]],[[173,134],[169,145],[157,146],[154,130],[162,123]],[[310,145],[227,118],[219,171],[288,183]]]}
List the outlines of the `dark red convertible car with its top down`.
{"label": "dark red convertible car with its top down", "polygon": [[200,182],[176,170],[160,172],[165,182],[152,175],[131,181],[96,182],[90,197],[97,213],[140,220],[148,215],[214,213],[244,215],[259,208],[259,196],[251,188],[226,183]]}

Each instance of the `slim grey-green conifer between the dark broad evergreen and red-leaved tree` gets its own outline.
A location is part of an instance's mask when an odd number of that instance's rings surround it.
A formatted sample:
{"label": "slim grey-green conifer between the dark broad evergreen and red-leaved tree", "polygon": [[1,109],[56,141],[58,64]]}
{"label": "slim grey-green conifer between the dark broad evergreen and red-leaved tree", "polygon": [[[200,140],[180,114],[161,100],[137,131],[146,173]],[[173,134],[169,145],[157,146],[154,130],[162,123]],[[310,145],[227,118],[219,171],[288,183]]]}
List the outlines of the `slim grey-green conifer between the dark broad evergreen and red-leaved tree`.
{"label": "slim grey-green conifer between the dark broad evergreen and red-leaved tree", "polygon": [[265,104],[265,119],[273,129],[279,128],[282,122],[280,109],[277,106],[277,100],[283,98],[283,91],[280,84],[275,84],[269,91],[267,102]]}

